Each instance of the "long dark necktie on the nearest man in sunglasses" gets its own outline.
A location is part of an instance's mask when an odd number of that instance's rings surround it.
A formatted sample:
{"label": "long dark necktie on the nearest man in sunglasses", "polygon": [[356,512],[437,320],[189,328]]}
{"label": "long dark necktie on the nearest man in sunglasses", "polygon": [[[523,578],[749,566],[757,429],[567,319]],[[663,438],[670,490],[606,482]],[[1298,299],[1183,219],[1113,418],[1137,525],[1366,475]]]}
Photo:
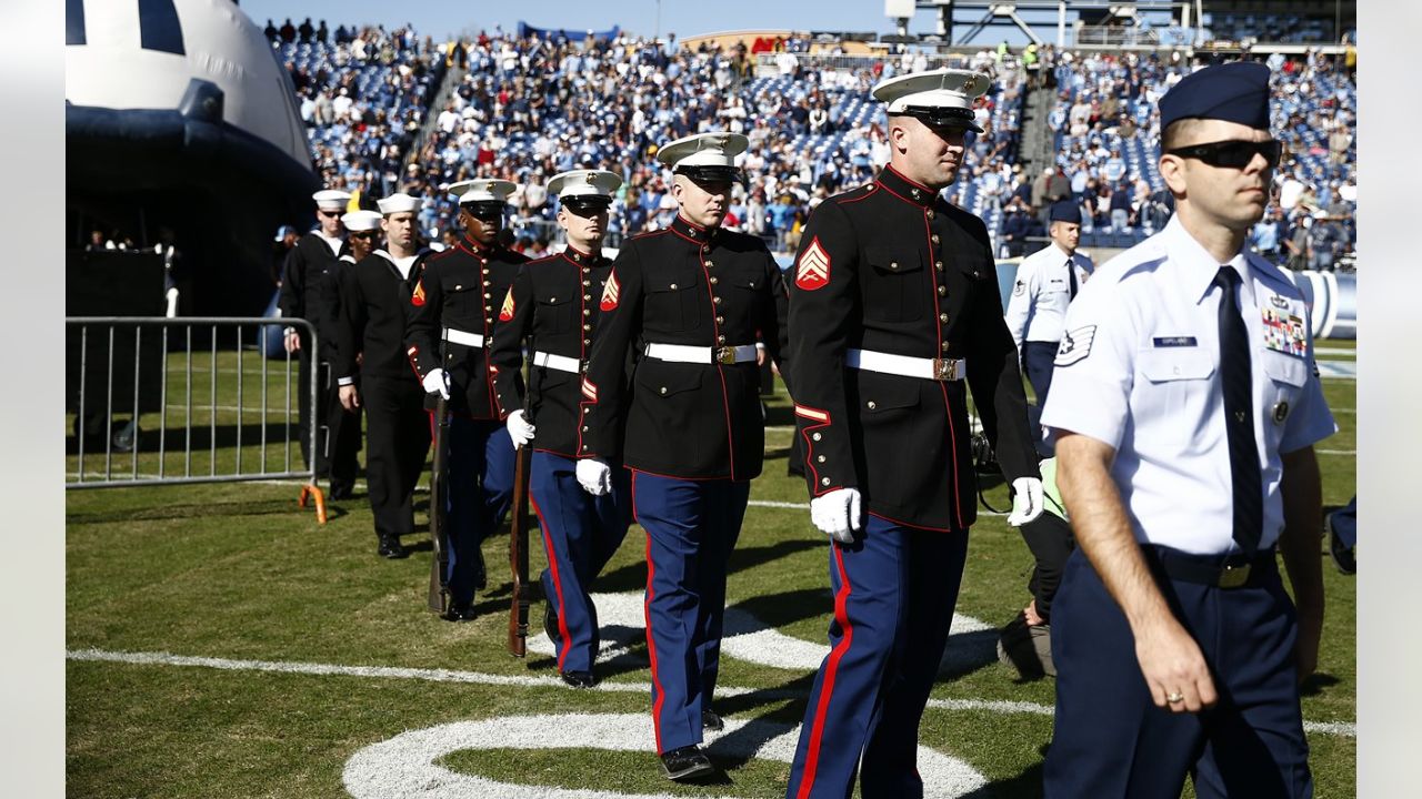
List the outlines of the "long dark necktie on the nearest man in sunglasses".
{"label": "long dark necktie on the nearest man in sunglasses", "polygon": [[1220,287],[1220,382],[1224,390],[1224,431],[1230,442],[1230,483],[1234,489],[1234,542],[1246,554],[1258,552],[1264,527],[1264,489],[1258,451],[1254,446],[1254,390],[1250,377],[1249,328],[1240,316],[1236,284],[1240,276],[1221,266],[1214,276]]}

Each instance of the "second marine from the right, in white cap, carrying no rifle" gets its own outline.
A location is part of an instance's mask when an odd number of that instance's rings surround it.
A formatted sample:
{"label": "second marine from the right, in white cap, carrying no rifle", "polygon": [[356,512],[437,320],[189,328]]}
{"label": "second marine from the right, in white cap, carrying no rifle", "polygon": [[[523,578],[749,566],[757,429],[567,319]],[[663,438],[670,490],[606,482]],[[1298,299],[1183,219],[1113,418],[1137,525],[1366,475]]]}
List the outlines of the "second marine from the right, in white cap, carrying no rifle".
{"label": "second marine from the right, in white cap, carrying no rifle", "polygon": [[765,455],[757,341],[782,351],[781,270],[761,239],[721,229],[747,144],[711,132],[657,152],[680,210],[617,253],[582,385],[579,482],[604,492],[621,452],[647,532],[653,722],[670,779],[714,772],[700,744],[722,725],[711,702],[727,562]]}

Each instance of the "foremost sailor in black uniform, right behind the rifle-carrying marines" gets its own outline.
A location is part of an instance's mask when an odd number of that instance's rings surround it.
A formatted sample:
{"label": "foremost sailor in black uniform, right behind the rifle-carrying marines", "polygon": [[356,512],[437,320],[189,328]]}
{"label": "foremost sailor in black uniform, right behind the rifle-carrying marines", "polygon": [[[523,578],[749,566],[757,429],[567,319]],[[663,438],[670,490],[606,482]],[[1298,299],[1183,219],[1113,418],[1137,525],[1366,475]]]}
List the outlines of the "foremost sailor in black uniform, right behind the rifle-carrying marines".
{"label": "foremost sailor in black uniform, right behind the rifle-carrying marines", "polygon": [[[351,249],[367,257],[341,270],[337,317],[337,382],[347,411],[365,411],[365,479],[375,516],[377,554],[404,557],[400,536],[415,529],[414,492],[429,451],[425,392],[405,360],[405,309],[419,277],[415,215],[421,199],[405,193],[375,203],[380,212],[346,215]],[[375,247],[381,233],[385,247]]]}

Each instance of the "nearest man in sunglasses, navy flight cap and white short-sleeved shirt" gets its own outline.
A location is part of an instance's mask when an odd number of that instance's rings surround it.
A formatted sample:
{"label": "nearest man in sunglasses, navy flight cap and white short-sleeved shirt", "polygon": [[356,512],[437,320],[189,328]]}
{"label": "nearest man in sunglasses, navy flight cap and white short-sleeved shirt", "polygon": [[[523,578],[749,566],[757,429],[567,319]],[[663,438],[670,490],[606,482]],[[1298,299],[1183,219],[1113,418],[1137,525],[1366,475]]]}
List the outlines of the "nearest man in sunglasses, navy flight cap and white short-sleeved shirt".
{"label": "nearest man in sunglasses, navy flight cap and white short-sleeved shirt", "polygon": [[1052,610],[1045,793],[1173,799],[1190,773],[1202,798],[1311,796],[1313,445],[1337,428],[1303,296],[1246,247],[1280,155],[1268,68],[1193,73],[1160,117],[1175,218],[1072,303],[1042,412],[1079,546]]}

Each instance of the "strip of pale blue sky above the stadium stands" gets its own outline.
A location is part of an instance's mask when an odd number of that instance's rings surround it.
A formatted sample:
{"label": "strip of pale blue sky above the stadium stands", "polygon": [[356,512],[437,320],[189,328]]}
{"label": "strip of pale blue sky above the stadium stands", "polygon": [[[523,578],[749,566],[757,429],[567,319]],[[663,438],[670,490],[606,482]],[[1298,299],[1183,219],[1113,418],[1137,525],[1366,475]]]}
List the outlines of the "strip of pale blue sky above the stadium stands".
{"label": "strip of pale blue sky above the stadium stands", "polygon": [[[566,27],[577,30],[623,30],[641,34],[675,33],[678,37],[702,33],[791,28],[893,33],[893,23],[884,16],[883,0],[826,0],[808,3],[766,3],[765,0],[538,0],[536,3],[390,3],[378,0],[240,0],[242,9],[259,26],[272,18],[277,26],[287,17],[300,24],[311,17],[316,24],[324,18],[330,27],[338,23],[383,23],[388,27],[412,23],[421,34],[444,37],[458,33],[478,33],[479,28],[515,30],[519,20],[533,27]],[[660,14],[660,18],[658,18]],[[1025,14],[1024,14],[1025,16]],[[909,30],[933,33],[936,13],[919,11]],[[1034,24],[1037,20],[1028,20]],[[1047,20],[1042,20],[1047,21]],[[1055,17],[1039,30],[1048,41],[1055,40]],[[1025,44],[1025,36],[1015,28],[990,28],[975,38],[980,44],[995,44],[1007,38]]]}

